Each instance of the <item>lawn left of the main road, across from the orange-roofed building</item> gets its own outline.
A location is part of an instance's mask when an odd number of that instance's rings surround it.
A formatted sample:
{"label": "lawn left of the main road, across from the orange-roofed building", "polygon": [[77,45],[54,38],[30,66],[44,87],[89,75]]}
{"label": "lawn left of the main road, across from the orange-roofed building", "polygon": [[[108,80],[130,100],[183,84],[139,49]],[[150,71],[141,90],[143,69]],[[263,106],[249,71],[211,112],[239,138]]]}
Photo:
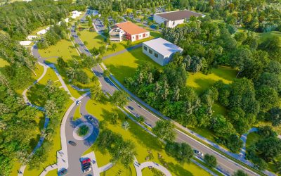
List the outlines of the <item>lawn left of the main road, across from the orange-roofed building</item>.
{"label": "lawn left of the main road, across from the orange-roofed building", "polygon": [[[41,57],[48,58],[53,56],[61,56],[65,60],[71,59],[73,56],[79,56],[77,50],[70,40],[62,39],[57,44],[48,46],[47,49],[39,49]],[[50,58],[48,61],[56,63],[56,58]]]}

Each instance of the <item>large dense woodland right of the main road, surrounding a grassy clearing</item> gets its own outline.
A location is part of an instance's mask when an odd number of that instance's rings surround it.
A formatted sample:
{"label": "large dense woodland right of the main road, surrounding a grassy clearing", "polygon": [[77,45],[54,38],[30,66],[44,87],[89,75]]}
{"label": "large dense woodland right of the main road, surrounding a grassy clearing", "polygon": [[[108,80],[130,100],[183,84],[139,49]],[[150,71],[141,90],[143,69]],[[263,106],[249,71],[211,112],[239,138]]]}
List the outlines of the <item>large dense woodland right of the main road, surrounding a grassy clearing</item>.
{"label": "large dense woodland right of the main road, surrounding a grassy clearing", "polygon": [[[259,44],[251,32],[231,32],[228,25],[211,23],[206,18],[164,29],[164,38],[183,47],[183,54],[175,54],[163,70],[140,65],[124,83],[164,115],[182,125],[212,130],[218,143],[237,152],[242,147],[240,134],[254,123],[266,120],[275,126],[281,124],[281,45],[278,38]],[[189,72],[208,74],[218,65],[237,68],[240,79],[231,84],[216,82],[200,95],[186,86]],[[228,113],[213,115],[214,103]]]}

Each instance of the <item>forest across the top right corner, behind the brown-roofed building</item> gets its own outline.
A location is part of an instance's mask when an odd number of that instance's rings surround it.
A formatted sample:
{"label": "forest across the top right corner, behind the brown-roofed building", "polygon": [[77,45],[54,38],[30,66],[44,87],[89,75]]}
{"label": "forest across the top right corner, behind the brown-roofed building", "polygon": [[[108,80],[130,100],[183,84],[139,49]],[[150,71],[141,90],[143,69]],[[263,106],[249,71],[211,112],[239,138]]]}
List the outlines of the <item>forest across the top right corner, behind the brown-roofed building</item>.
{"label": "forest across the top right corner, behind the brown-roofed building", "polygon": [[214,20],[224,20],[229,25],[246,27],[256,32],[281,31],[280,1],[174,0],[172,4],[171,8],[209,13]]}

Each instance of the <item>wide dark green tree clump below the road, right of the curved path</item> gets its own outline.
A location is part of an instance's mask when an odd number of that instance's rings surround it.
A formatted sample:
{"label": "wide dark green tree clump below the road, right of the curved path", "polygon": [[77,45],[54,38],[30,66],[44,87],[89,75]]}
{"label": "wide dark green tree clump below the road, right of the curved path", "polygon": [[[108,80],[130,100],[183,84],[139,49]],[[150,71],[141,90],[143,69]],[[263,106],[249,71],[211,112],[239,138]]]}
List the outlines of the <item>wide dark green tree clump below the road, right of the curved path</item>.
{"label": "wide dark green tree clump below the road, right of the curved path", "polygon": [[167,142],[165,151],[181,163],[190,163],[190,159],[193,157],[193,151],[186,143]]}

